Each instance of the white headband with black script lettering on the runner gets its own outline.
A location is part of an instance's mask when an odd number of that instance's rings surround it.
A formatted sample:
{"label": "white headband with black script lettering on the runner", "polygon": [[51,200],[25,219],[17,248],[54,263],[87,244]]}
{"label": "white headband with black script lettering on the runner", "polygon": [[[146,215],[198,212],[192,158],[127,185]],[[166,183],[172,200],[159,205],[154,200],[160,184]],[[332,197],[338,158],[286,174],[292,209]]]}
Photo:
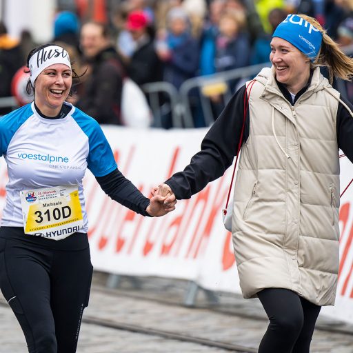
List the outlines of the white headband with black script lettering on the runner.
{"label": "white headband with black script lettering on the runner", "polygon": [[38,75],[54,63],[63,63],[71,70],[70,57],[65,49],[59,46],[48,46],[35,52],[29,62],[32,85],[34,85]]}

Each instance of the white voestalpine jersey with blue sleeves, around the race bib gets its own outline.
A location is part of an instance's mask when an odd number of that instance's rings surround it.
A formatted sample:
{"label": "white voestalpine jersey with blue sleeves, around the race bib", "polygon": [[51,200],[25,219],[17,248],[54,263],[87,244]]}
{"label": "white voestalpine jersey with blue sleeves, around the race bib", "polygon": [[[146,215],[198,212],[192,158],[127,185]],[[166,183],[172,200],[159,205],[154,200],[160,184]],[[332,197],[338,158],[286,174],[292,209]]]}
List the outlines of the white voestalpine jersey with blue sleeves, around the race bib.
{"label": "white voestalpine jersey with blue sleeves, around the race bib", "polygon": [[1,225],[23,227],[20,192],[58,185],[78,185],[83,228],[88,231],[82,179],[88,168],[95,177],[117,170],[101,127],[74,108],[62,119],[41,117],[34,103],[0,119],[0,153],[8,165],[6,206]]}

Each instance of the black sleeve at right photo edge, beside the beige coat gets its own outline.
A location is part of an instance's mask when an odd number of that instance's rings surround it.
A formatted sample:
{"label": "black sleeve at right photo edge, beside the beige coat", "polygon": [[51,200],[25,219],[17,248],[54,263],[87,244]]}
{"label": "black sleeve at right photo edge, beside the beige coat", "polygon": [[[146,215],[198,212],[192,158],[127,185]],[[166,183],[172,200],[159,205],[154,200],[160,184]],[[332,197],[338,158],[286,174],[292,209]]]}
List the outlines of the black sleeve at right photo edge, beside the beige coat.
{"label": "black sleeve at right photo edge, beside the beige coat", "polygon": [[[348,105],[353,112],[353,105],[341,96],[342,101]],[[353,163],[353,117],[345,106],[339,103],[336,119],[337,141],[339,148],[347,158]]]}

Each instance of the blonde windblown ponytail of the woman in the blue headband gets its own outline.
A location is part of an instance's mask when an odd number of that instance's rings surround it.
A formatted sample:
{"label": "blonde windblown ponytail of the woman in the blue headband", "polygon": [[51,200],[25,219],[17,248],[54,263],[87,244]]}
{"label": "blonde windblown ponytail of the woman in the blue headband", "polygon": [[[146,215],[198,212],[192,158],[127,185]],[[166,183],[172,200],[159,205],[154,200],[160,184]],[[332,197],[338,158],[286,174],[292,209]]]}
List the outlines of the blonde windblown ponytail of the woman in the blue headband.
{"label": "blonde windblown ponytail of the woman in the blue headband", "polygon": [[305,14],[298,14],[298,16],[312,24],[312,26],[317,28],[323,35],[320,52],[312,63],[313,67],[327,66],[330,75],[330,83],[332,83],[334,76],[346,81],[352,81],[353,59],[347,57],[347,55],[339,48],[339,44],[327,35],[326,31],[316,19]]}

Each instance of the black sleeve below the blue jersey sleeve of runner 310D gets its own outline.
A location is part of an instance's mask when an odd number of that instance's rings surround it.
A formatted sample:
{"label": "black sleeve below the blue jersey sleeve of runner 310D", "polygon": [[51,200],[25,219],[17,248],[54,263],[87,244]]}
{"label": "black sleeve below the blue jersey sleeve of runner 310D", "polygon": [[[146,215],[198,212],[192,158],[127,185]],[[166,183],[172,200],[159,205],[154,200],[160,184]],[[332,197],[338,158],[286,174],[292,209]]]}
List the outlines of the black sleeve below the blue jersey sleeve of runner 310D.
{"label": "black sleeve below the blue jersey sleeve of runner 310D", "polygon": [[99,185],[105,194],[108,194],[111,199],[121,203],[130,210],[149,216],[146,212],[147,206],[150,204],[150,199],[143,196],[136,186],[126,179],[121,172],[116,169],[104,177],[96,177]]}

